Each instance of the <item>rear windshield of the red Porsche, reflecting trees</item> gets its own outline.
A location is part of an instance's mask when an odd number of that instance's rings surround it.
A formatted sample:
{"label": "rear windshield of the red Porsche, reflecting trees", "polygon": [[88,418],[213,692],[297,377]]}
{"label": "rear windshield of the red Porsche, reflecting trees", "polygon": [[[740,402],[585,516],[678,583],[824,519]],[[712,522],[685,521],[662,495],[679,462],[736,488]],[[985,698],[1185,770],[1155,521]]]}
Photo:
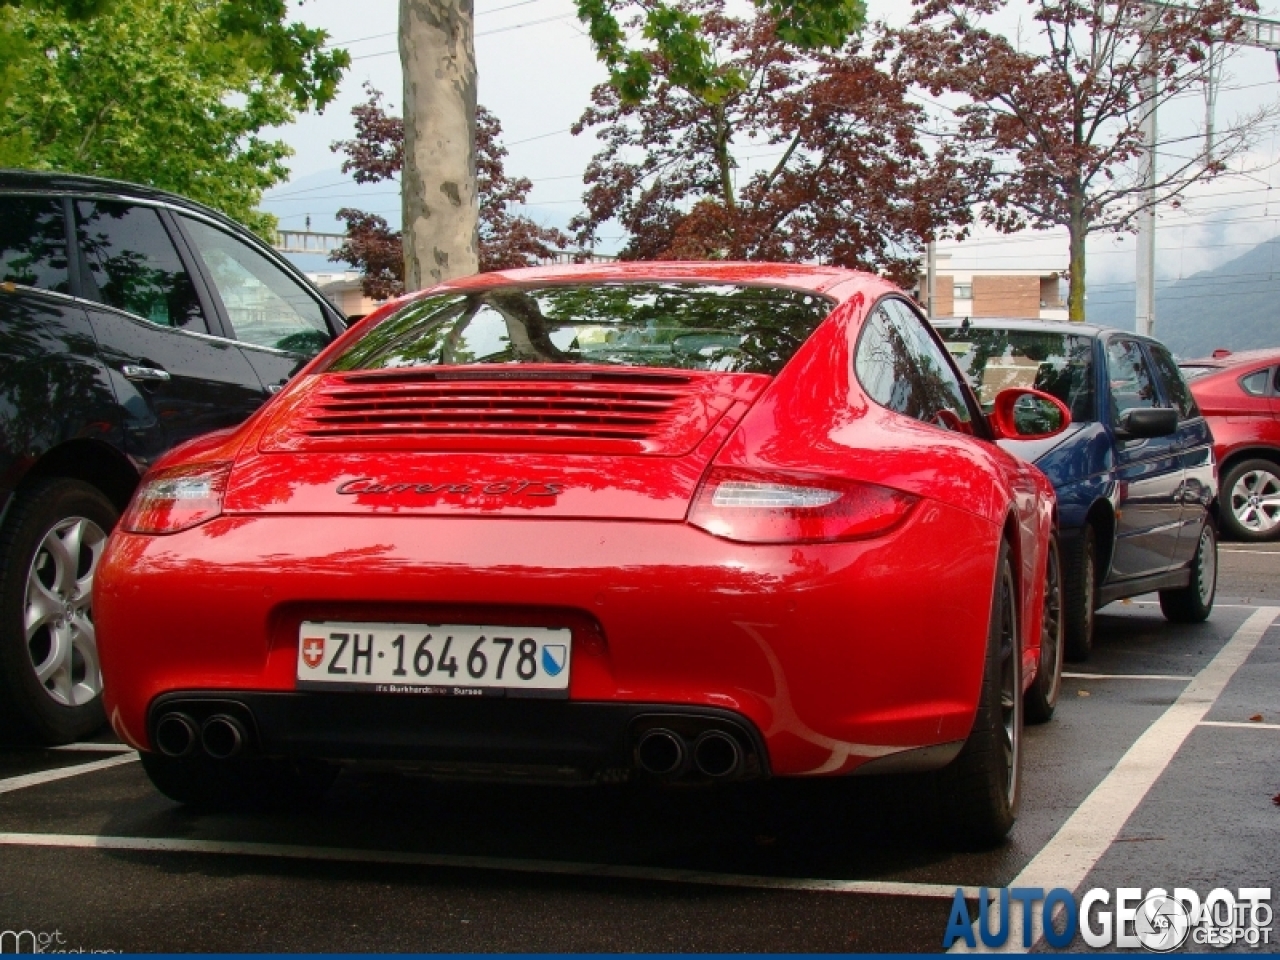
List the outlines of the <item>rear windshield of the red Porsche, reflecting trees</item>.
{"label": "rear windshield of the red Porsche, reflecting trees", "polygon": [[777,374],[831,307],[805,291],[712,283],[440,293],[383,320],[329,370],[603,364]]}

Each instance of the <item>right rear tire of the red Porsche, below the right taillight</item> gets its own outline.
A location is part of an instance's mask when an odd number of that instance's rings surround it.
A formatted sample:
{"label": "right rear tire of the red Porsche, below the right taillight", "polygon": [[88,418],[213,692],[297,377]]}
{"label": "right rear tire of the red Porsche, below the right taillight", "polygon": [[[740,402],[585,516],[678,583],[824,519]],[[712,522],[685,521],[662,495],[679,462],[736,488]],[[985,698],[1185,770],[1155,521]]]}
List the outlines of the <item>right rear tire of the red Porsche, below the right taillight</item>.
{"label": "right rear tire of the red Porsche, below the right taillight", "polygon": [[978,710],[960,754],[938,772],[950,837],[964,849],[1004,842],[1023,781],[1023,652],[1009,543],[1000,547]]}

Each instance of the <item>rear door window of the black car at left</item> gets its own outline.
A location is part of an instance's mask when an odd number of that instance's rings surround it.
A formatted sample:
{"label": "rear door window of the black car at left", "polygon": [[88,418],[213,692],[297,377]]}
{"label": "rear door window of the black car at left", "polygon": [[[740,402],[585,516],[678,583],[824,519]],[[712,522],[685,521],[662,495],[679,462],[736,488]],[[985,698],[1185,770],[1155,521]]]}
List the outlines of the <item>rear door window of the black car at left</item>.
{"label": "rear door window of the black car at left", "polygon": [[76,236],[96,300],[157,326],[207,330],[196,288],[155,210],[78,200]]}

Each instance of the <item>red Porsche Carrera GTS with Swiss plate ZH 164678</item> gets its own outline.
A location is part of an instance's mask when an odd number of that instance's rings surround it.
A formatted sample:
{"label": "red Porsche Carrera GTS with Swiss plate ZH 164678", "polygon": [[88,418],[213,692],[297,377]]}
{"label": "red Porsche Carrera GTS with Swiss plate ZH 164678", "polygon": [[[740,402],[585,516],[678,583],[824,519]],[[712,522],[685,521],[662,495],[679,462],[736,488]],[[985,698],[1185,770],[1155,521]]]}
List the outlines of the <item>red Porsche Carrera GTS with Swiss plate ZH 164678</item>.
{"label": "red Porsche Carrera GTS with Swiss plate ZH 164678", "polygon": [[347,764],[726,782],[937,771],[1018,809],[1061,677],[1055,499],[891,284],[485,274],[349,330],[143,480],[99,567],[108,714],[183,803]]}

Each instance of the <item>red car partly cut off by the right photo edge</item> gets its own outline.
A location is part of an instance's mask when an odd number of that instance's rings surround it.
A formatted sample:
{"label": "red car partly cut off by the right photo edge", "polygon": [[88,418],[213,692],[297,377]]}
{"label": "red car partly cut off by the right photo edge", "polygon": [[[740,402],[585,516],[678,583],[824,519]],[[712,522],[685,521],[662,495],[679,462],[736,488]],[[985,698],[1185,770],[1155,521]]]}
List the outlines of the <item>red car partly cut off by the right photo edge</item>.
{"label": "red car partly cut off by the right photo edge", "polygon": [[1179,364],[1213,431],[1219,520],[1238,540],[1280,536],[1280,349]]}

